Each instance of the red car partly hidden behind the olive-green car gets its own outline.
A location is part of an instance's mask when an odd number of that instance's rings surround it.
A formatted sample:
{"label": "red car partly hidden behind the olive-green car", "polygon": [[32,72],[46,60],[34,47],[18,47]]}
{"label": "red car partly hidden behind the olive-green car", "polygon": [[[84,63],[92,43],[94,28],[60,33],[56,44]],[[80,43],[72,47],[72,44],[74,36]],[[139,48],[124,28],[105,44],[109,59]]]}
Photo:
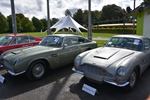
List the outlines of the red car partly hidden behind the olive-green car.
{"label": "red car partly hidden behind the olive-green car", "polygon": [[42,38],[27,34],[9,34],[0,37],[0,55],[10,49],[38,45]]}

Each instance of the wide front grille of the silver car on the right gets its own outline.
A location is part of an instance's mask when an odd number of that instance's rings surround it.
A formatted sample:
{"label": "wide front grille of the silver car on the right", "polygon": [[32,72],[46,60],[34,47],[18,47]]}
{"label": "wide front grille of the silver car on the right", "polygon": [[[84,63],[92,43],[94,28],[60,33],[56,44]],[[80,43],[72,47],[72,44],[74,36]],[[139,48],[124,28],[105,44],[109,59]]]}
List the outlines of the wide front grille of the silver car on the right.
{"label": "wide front grille of the silver car on the right", "polygon": [[112,77],[112,75],[109,74],[108,72],[106,72],[106,70],[104,70],[100,67],[97,67],[97,66],[93,66],[93,65],[84,64],[80,67],[80,70],[82,70],[86,73],[93,73],[93,74],[97,74],[97,75]]}

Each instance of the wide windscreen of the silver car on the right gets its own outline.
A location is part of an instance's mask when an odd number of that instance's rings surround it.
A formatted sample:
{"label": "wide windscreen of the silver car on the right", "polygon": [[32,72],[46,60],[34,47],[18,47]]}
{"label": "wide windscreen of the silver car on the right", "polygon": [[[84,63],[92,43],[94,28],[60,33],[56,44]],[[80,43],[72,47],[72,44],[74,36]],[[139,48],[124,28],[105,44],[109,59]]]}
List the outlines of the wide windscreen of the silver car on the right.
{"label": "wide windscreen of the silver car on the right", "polygon": [[143,50],[142,40],[137,38],[112,37],[105,46],[126,48],[136,51]]}

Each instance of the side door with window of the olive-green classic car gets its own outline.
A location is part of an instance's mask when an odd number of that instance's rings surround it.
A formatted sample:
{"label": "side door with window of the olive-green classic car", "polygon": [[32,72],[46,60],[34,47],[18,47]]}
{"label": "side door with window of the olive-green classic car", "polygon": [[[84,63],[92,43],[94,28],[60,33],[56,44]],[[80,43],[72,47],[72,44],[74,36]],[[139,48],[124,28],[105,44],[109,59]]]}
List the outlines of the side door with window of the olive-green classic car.
{"label": "side door with window of the olive-green classic car", "polygon": [[63,49],[60,54],[61,64],[66,65],[72,63],[75,57],[79,54],[77,37],[66,37],[63,41]]}

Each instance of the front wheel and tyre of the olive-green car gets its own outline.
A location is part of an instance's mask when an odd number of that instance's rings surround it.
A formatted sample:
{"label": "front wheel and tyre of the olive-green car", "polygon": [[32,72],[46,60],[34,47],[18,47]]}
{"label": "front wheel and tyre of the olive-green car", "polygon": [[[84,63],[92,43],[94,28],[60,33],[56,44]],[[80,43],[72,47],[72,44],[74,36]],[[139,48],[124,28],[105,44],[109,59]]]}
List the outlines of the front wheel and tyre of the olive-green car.
{"label": "front wheel and tyre of the olive-green car", "polygon": [[43,61],[35,61],[31,63],[27,70],[27,77],[30,80],[42,79],[46,74],[46,64]]}

